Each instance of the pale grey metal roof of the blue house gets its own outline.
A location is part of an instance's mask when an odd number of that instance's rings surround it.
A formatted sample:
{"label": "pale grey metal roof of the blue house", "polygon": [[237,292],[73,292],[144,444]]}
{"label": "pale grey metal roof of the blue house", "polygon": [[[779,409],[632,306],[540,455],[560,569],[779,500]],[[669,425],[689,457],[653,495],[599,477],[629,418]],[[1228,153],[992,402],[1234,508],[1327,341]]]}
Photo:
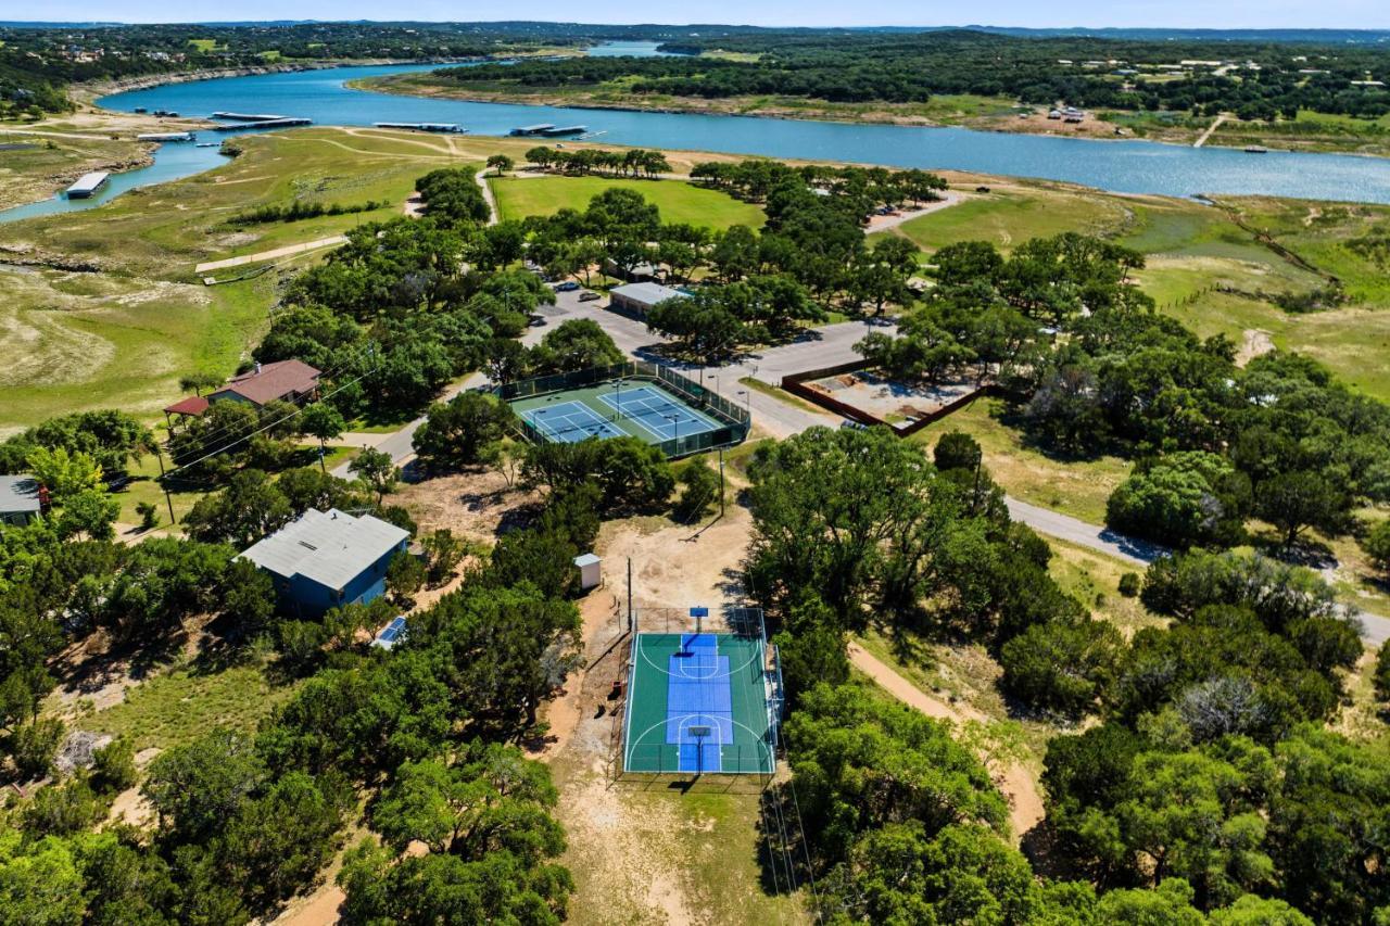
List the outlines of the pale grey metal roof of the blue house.
{"label": "pale grey metal roof of the blue house", "polygon": [[284,578],[303,576],[341,591],[407,537],[407,531],[371,514],[353,517],[336,507],[310,509],[238,559]]}

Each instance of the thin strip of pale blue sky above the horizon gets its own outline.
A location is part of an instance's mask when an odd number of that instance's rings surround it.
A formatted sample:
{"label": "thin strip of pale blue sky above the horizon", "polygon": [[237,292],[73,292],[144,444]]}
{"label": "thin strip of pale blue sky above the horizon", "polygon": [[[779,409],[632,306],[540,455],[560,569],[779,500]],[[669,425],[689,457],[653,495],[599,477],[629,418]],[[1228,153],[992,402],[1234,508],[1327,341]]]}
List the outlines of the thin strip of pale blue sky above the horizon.
{"label": "thin strip of pale blue sky above the horizon", "polygon": [[[25,18],[46,21],[207,22],[247,19],[548,19],[557,22],[719,22],[746,25],[1183,26],[1212,29],[1390,28],[1386,0],[530,0],[521,6],[457,0],[46,0]],[[0,3],[0,19],[21,18]]]}

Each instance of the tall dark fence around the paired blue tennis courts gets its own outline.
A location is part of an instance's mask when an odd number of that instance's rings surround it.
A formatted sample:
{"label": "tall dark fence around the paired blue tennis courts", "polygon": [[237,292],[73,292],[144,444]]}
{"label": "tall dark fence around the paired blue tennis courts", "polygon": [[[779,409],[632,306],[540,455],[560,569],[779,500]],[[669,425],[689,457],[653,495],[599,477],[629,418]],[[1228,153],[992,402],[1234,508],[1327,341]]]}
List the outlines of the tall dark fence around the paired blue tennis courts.
{"label": "tall dark fence around the paired blue tennis courts", "polygon": [[[589,367],[571,373],[555,373],[545,377],[505,382],[499,387],[492,387],[491,392],[503,402],[514,402],[516,399],[528,399],[537,395],[584,389],[613,380],[648,380],[659,382],[666,391],[680,396],[692,409],[705,412],[719,423],[720,427],[710,431],[678,435],[657,442],[655,446],[667,457],[676,459],[720,446],[741,444],[752,428],[746,409],[730,402],[717,392],[710,392],[694,380],[645,360],[628,360],[605,367]],[[521,420],[520,427],[521,432],[530,441],[539,444],[550,439],[530,421]]]}

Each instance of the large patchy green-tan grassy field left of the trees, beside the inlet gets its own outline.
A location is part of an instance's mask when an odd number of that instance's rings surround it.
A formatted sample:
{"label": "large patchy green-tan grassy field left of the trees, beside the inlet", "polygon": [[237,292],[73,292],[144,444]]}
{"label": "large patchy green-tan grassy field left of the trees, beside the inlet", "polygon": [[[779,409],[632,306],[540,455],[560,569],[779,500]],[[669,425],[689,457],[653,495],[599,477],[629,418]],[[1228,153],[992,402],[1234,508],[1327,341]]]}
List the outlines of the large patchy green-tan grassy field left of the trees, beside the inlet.
{"label": "large patchy green-tan grassy field left of the trees, beside the inlet", "polygon": [[[399,216],[417,177],[480,161],[496,147],[373,129],[306,129],[239,143],[240,157],[207,174],[90,210],[0,225],[0,246],[40,264],[0,270],[7,295],[0,348],[13,359],[0,371],[0,435],[82,409],[160,419],[158,410],[181,395],[179,377],[235,370],[275,299],[275,274],[204,288],[193,264]],[[295,200],[388,206],[299,222],[227,221]],[[311,260],[317,256],[286,263]],[[71,261],[101,273],[53,268]]]}

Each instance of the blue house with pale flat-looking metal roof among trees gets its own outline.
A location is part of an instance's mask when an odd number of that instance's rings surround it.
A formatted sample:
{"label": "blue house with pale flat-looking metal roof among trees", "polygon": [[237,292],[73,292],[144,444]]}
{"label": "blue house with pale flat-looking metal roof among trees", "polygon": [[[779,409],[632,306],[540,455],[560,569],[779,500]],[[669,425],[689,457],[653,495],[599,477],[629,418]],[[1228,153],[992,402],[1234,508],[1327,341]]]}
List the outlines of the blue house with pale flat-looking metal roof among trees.
{"label": "blue house with pale flat-looking metal roof among trees", "polygon": [[285,612],[318,617],[329,608],[385,594],[386,564],[409,539],[406,531],[370,514],[309,510],[238,559],[270,574]]}

